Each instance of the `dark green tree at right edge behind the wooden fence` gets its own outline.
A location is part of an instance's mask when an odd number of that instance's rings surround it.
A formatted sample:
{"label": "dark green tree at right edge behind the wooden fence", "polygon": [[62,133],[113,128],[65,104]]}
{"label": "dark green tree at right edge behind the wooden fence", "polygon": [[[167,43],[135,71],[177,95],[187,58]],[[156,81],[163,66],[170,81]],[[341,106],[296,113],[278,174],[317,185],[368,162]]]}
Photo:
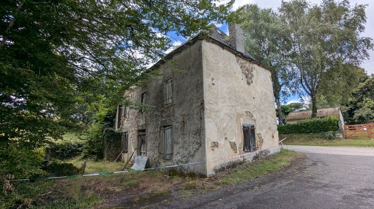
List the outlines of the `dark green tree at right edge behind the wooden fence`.
{"label": "dark green tree at right edge behind the wooden fence", "polygon": [[344,108],[348,124],[374,123],[374,75],[365,78]]}

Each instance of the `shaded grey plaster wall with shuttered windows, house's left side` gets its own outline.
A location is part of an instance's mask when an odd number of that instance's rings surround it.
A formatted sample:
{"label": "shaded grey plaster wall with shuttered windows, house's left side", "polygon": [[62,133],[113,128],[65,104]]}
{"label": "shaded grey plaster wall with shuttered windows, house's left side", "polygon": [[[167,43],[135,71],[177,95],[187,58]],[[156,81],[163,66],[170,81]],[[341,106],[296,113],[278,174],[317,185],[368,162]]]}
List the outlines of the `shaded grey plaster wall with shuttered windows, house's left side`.
{"label": "shaded grey plaster wall with shuttered windows, house's left side", "polygon": [[[129,131],[129,152],[123,155],[123,160],[127,160],[137,147],[140,129],[147,130],[147,157],[151,167],[205,160],[201,41],[181,50],[172,61],[162,64],[159,67],[161,76],[154,77],[146,87],[137,87],[127,93],[132,100],[140,101],[141,94],[147,92],[146,103],[150,108],[143,113],[131,109],[129,118],[124,119],[122,131]],[[173,71],[173,68],[182,72]],[[164,106],[163,82],[171,78],[173,102]],[[164,160],[159,154],[160,128],[167,125],[172,125],[171,160]],[[203,163],[178,169],[206,174]]]}

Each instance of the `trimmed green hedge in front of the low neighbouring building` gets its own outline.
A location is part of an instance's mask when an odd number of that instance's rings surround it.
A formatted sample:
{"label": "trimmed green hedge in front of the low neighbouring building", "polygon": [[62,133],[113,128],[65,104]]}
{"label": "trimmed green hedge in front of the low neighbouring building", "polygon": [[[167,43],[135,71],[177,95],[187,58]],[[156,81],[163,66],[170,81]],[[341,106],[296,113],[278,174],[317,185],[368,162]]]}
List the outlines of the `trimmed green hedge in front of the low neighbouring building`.
{"label": "trimmed green hedge in front of the low neighbouring building", "polygon": [[339,117],[329,116],[324,118],[312,118],[303,122],[278,125],[280,134],[289,133],[319,133],[339,130]]}

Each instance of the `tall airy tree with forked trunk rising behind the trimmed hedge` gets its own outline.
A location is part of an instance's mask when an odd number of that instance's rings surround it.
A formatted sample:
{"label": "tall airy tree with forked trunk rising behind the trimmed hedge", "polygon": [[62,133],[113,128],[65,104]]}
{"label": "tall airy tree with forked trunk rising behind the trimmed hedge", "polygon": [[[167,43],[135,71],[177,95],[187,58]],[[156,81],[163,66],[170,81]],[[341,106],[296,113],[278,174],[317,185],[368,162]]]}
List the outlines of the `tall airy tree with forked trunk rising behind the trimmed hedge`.
{"label": "tall airy tree with forked trunk rising behind the trimmed hedge", "polygon": [[312,117],[317,114],[317,95],[323,75],[345,64],[360,65],[369,58],[372,39],[362,37],[366,14],[364,4],[348,0],[282,2],[281,21],[291,40],[292,64],[299,72],[302,90],[310,97]]}

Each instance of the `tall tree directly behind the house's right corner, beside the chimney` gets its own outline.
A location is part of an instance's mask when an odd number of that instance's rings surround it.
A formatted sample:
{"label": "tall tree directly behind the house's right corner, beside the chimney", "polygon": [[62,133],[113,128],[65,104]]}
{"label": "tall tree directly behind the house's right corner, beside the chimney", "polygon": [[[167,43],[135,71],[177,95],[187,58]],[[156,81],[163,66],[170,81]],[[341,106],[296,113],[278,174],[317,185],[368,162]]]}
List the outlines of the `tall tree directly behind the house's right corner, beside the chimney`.
{"label": "tall tree directly behind the house's right corner, beside the chimney", "polygon": [[258,61],[273,70],[271,78],[279,124],[283,124],[281,102],[295,87],[295,75],[290,68],[291,45],[287,31],[278,14],[272,9],[261,9],[255,4],[248,4],[239,10],[242,18],[245,49]]}

